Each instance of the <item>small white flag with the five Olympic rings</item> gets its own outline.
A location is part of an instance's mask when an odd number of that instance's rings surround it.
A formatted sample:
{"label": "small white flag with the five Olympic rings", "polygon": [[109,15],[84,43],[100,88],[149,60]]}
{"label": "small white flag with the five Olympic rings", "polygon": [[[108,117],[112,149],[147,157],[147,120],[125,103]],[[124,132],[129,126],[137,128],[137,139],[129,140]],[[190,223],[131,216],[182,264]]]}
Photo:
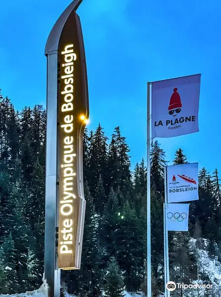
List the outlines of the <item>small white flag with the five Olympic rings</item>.
{"label": "small white flag with the five Olympic rings", "polygon": [[189,204],[166,203],[168,231],[188,231]]}

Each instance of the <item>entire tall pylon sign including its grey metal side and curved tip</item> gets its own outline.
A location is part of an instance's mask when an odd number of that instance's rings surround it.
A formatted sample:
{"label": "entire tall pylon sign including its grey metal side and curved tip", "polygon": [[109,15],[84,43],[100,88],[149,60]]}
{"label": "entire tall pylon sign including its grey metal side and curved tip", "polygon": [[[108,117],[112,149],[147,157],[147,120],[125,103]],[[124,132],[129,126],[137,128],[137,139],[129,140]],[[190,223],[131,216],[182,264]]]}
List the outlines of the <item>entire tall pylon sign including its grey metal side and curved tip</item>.
{"label": "entire tall pylon sign including its grey metal side and curved tip", "polygon": [[[88,121],[89,108],[85,49],[80,18],[76,13],[80,3],[81,0],[72,1],[61,14],[50,32],[45,47],[47,56],[45,274],[52,290],[51,296],[54,294],[55,270],[81,267],[86,209],[83,184],[83,133]],[[54,128],[55,123],[57,126]],[[57,136],[56,139],[51,131]],[[49,163],[49,160],[52,162]],[[50,181],[55,175],[58,178],[56,185],[53,181],[47,182],[47,179]],[[58,240],[55,240],[57,260],[53,264],[56,258],[52,248],[55,237],[51,235],[53,229],[56,229],[54,227],[57,228]]]}

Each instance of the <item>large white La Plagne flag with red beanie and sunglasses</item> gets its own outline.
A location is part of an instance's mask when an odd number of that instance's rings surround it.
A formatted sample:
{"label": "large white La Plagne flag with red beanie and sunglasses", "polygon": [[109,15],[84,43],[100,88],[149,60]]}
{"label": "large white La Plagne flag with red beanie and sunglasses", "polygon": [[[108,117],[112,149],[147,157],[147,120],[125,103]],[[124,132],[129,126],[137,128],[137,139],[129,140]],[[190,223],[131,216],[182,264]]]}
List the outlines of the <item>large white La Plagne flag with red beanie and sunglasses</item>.
{"label": "large white La Plagne flag with red beanie and sunglasses", "polygon": [[152,138],[199,131],[201,74],[152,83]]}

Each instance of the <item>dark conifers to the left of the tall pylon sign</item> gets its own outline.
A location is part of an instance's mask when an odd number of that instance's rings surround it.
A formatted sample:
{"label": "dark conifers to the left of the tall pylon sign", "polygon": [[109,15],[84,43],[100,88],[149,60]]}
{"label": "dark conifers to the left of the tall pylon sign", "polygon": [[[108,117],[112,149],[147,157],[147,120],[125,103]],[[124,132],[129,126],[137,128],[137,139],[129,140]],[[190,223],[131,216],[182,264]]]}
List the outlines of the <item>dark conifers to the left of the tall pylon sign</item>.
{"label": "dark conifers to the left of the tall pylon sign", "polygon": [[41,105],[19,113],[0,96],[0,273],[7,289],[0,293],[42,283],[45,120]]}

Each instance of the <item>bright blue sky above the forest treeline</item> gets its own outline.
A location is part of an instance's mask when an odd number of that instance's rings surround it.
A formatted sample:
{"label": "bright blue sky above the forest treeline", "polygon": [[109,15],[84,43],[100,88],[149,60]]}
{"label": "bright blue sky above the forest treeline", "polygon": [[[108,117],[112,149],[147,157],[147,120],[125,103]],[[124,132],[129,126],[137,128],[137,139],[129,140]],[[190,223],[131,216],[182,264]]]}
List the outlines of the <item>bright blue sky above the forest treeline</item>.
{"label": "bright blue sky above the forest treeline", "polygon": [[[1,3],[0,88],[21,110],[46,100],[47,36],[70,0]],[[132,165],[146,154],[146,82],[202,73],[200,132],[158,139],[167,160],[181,147],[190,162],[221,171],[221,2],[84,0],[89,130],[120,126]]]}

